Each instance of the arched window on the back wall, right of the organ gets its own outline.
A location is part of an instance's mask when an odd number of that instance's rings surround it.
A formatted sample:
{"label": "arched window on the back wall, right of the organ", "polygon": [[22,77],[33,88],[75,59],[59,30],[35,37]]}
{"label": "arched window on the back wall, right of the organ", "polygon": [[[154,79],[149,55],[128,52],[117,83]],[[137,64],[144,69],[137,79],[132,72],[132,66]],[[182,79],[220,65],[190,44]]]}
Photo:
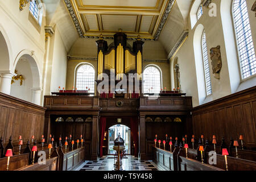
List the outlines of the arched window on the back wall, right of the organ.
{"label": "arched window on the back wall, right of the organ", "polygon": [[143,91],[144,93],[160,93],[162,76],[159,68],[150,65],[143,72]]}

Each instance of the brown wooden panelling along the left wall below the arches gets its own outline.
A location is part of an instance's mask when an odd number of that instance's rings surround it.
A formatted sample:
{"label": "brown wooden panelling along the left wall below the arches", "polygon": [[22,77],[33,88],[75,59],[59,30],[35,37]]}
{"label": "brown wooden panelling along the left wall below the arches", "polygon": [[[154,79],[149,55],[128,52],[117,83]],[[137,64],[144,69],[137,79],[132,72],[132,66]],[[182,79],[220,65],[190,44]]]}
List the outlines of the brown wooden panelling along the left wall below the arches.
{"label": "brown wooden panelling along the left wall below the arches", "polygon": [[46,108],[0,93],[0,137],[7,144],[13,137],[14,145],[22,135],[23,142],[35,135],[40,140],[44,132]]}

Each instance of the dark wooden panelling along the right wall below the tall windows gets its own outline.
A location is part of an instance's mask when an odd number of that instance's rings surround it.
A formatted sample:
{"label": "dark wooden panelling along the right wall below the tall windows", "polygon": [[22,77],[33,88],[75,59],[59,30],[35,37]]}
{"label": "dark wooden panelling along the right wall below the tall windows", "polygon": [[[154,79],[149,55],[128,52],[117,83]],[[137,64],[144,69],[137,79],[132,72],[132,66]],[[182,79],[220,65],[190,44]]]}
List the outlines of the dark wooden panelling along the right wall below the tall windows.
{"label": "dark wooden panelling along the right wall below the tall windows", "polygon": [[256,86],[220,98],[193,108],[192,123],[196,137],[204,134],[205,138],[212,139],[216,135],[217,142],[224,137],[226,144],[232,137],[238,140],[244,136],[245,147],[256,148]]}

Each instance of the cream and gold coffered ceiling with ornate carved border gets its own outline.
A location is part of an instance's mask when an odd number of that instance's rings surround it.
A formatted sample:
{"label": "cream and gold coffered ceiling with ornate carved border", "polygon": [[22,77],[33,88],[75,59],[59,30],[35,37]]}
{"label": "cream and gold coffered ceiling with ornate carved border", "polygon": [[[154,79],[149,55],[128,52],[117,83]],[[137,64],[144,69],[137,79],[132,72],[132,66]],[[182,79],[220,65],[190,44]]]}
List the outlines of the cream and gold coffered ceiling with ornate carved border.
{"label": "cream and gold coffered ceiling with ornate carved border", "polygon": [[64,0],[81,38],[113,38],[122,28],[130,39],[157,40],[176,0]]}

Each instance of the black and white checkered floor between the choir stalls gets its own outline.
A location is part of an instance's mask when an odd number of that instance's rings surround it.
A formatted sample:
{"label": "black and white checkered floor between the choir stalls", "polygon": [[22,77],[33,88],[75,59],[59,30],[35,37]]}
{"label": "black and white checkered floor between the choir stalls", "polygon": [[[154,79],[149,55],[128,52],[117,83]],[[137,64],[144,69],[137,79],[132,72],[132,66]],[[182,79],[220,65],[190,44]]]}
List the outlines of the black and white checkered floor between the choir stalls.
{"label": "black and white checkered floor between the choir stalls", "polygon": [[[123,170],[126,171],[159,171],[159,167],[151,160],[139,160],[134,156],[127,155],[122,159]],[[114,170],[114,156],[103,156],[98,161],[85,161],[76,171],[113,171]]]}

